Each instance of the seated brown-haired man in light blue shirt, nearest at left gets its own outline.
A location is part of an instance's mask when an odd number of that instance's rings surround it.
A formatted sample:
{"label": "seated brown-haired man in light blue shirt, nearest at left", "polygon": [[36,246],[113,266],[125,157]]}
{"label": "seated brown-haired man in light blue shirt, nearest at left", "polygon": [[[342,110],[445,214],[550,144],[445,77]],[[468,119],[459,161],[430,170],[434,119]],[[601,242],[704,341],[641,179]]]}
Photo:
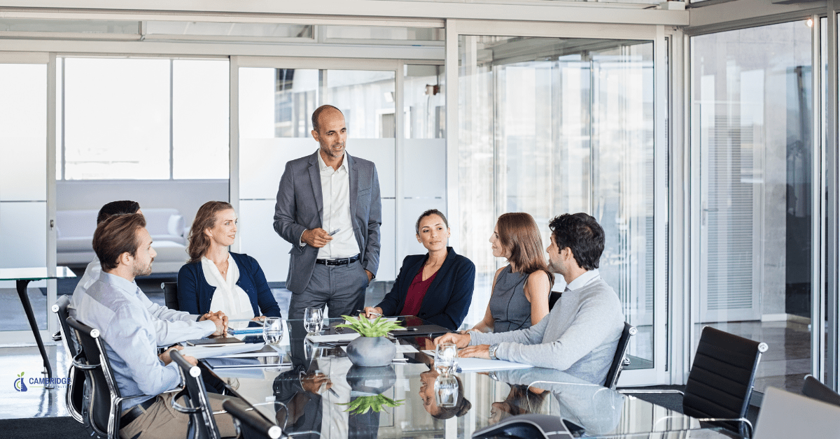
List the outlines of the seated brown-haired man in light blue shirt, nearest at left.
{"label": "seated brown-haired man in light blue shirt, nearest at left", "polygon": [[[108,217],[93,234],[93,250],[102,261],[99,280],[74,297],[71,316],[97,328],[105,342],[105,354],[123,396],[150,395],[123,403],[120,436],[123,438],[185,437],[189,415],[173,410],[173,393],[181,384],[169,351],[158,357],[154,317],[145,305],[134,277],[151,273],[155,250],[140,213]],[[202,336],[222,333],[220,320]],[[180,347],[178,347],[180,349]],[[185,356],[196,364],[196,358]],[[161,395],[162,394],[162,395]],[[209,394],[213,410],[222,409],[221,395]],[[216,415],[222,436],[236,436],[230,415]]]}

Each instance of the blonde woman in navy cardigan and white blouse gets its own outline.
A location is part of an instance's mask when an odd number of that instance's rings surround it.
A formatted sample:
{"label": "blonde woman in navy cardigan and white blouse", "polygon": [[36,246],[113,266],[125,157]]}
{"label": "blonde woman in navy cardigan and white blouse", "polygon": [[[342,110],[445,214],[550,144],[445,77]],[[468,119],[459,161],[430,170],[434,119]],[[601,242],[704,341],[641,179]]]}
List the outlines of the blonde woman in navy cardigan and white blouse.
{"label": "blonde woman in navy cardigan and white blouse", "polygon": [[228,252],[236,238],[236,212],[224,201],[208,201],[192,222],[187,253],[178,272],[178,306],[191,314],[211,309],[231,320],[280,317],[265,274],[256,259]]}

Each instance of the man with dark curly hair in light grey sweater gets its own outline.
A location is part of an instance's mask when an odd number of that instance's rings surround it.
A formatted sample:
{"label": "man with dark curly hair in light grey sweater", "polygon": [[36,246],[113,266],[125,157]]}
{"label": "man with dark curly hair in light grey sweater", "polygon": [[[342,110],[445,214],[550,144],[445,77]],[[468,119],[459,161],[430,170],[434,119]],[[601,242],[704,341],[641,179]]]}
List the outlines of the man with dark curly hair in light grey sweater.
{"label": "man with dark curly hair in light grey sweater", "polygon": [[434,342],[454,342],[463,348],[460,357],[556,368],[604,384],[624,328],[621,302],[598,274],[604,229],[585,213],[554,217],[549,228],[549,269],[561,274],[567,284],[549,316],[528,329],[450,333]]}

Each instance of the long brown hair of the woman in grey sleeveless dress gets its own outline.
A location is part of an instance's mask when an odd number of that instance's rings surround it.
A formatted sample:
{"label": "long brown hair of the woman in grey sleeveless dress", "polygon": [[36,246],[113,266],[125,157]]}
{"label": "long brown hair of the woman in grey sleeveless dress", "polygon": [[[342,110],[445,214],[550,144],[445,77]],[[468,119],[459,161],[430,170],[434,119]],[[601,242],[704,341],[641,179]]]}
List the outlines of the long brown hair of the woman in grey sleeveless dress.
{"label": "long brown hair of the woman in grey sleeveless dress", "polygon": [[543,255],[543,238],[539,236],[539,227],[533,217],[525,212],[505,213],[496,221],[496,227],[502,247],[511,252],[507,261],[523,274],[543,270],[554,285],[554,274],[549,271]]}

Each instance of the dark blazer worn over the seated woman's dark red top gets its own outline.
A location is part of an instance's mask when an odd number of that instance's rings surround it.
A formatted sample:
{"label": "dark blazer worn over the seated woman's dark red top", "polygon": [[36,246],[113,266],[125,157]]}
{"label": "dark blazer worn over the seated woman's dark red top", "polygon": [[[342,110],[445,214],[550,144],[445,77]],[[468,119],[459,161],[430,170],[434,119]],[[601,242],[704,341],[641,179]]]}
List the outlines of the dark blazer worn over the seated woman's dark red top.
{"label": "dark blazer worn over the seated woman's dark red top", "polygon": [[[458,329],[467,316],[475,287],[475,264],[470,259],[455,253],[451,247],[438,274],[428,285],[420,312],[417,316],[451,330]],[[379,306],[385,316],[396,316],[406,304],[408,287],[414,276],[423,269],[428,258],[426,254],[410,254],[402,260],[400,274],[397,274],[394,287],[385,295]]]}

